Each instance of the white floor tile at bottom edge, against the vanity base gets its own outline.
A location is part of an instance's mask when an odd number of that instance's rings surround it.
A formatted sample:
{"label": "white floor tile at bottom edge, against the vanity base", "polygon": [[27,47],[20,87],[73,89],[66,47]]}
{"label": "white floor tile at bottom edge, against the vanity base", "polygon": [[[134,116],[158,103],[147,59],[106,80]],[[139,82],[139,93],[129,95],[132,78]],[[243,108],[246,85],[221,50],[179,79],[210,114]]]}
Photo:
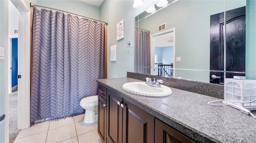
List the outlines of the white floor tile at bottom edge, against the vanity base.
{"label": "white floor tile at bottom edge, against the vanity base", "polygon": [[102,143],[97,130],[94,130],[82,135],[78,135],[78,142],[79,143]]}

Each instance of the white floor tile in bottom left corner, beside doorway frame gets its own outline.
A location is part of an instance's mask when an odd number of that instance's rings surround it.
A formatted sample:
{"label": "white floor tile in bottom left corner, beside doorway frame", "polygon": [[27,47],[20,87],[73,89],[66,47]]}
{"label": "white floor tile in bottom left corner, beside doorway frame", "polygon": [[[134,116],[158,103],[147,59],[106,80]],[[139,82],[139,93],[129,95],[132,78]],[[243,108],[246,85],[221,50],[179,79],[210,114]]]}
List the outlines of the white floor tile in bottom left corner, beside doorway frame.
{"label": "white floor tile in bottom left corner, beside doorway frame", "polygon": [[47,136],[47,131],[42,133],[36,133],[34,135],[29,135],[19,139],[15,139],[14,143],[45,143]]}

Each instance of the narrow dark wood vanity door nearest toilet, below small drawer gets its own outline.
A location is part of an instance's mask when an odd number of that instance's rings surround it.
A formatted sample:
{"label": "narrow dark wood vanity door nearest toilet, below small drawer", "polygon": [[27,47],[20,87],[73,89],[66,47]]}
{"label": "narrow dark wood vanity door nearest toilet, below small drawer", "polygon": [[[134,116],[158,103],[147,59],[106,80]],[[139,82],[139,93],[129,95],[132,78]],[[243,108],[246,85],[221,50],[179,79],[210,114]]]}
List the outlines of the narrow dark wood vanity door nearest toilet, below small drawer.
{"label": "narrow dark wood vanity door nearest toilet, below small drawer", "polygon": [[106,119],[107,119],[107,101],[98,96],[98,134],[102,143],[106,143]]}

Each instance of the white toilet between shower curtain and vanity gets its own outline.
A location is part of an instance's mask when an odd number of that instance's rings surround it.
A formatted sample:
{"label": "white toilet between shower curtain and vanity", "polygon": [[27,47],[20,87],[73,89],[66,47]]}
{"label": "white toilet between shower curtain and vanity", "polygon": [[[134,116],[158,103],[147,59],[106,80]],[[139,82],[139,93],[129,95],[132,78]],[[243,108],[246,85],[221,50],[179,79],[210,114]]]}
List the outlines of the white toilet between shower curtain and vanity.
{"label": "white toilet between shower curtain and vanity", "polygon": [[98,95],[83,98],[80,106],[85,109],[84,123],[94,123],[98,120]]}

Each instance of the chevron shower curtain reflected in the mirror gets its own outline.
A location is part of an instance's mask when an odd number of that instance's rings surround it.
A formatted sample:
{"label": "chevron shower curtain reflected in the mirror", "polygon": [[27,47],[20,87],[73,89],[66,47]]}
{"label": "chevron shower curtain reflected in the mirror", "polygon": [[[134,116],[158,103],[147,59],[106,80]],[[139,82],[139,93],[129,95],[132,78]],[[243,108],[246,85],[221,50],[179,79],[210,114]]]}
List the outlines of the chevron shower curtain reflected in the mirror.
{"label": "chevron shower curtain reflected in the mirror", "polygon": [[134,72],[150,74],[150,32],[135,28]]}

